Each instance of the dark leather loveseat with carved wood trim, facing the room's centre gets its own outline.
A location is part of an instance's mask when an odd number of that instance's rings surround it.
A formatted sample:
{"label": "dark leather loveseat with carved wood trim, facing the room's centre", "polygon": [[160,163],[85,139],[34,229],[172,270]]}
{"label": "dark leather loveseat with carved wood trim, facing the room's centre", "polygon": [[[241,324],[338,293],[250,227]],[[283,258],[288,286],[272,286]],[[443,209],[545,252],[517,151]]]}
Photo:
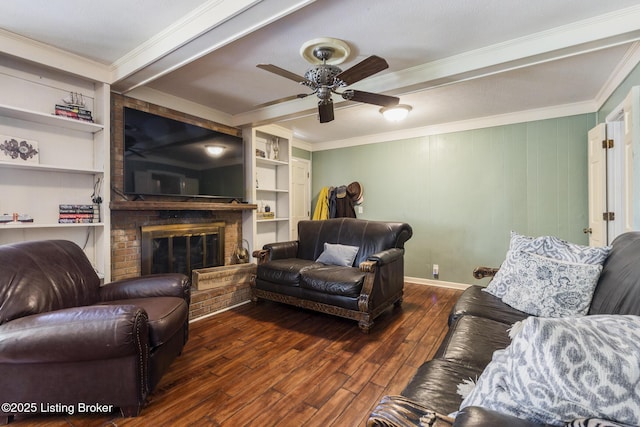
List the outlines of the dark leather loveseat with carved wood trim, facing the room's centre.
{"label": "dark leather loveseat with carved wood trim, facing the room's centre", "polygon": [[[300,221],[298,240],[255,251],[252,298],[264,298],[357,320],[368,332],[373,319],[402,303],[404,243],[409,224],[332,218]],[[353,263],[317,262],[325,243],[357,247]]]}

